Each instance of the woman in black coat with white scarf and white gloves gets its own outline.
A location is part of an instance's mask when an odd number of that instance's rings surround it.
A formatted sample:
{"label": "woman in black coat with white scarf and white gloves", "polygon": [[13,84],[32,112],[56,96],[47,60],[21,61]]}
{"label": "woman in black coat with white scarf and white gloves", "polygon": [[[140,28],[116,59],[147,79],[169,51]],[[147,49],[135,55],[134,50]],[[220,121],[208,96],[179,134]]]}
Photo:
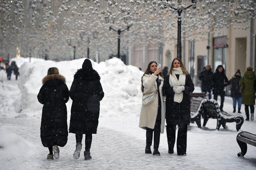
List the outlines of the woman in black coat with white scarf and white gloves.
{"label": "woman in black coat with white scarf and white gloves", "polygon": [[175,58],[164,79],[163,95],[166,96],[166,133],[168,153],[174,153],[176,126],[178,125],[177,154],[187,155],[187,128],[190,123],[190,94],[194,84],[182,61]]}

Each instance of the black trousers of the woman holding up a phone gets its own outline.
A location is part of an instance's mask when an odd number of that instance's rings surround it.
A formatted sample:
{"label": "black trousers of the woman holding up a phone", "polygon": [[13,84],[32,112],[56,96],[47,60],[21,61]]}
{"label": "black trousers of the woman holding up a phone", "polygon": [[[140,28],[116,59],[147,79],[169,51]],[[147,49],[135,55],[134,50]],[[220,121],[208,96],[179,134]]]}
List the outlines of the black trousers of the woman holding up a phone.
{"label": "black trousers of the woman holding up a phone", "polygon": [[154,149],[158,150],[159,142],[160,142],[161,122],[156,121],[154,129],[151,129],[151,128],[146,129],[146,146],[152,145],[153,132],[154,132]]}

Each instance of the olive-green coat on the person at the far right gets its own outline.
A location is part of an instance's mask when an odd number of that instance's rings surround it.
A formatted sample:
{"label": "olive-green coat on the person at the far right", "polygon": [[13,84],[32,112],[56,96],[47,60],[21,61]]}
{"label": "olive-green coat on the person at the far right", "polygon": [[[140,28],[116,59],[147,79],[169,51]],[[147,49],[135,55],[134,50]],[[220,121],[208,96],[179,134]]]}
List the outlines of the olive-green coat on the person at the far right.
{"label": "olive-green coat on the person at the far right", "polygon": [[253,83],[256,77],[253,71],[246,71],[239,81],[239,86],[244,82],[244,91],[242,94],[242,104],[255,105],[255,89]]}

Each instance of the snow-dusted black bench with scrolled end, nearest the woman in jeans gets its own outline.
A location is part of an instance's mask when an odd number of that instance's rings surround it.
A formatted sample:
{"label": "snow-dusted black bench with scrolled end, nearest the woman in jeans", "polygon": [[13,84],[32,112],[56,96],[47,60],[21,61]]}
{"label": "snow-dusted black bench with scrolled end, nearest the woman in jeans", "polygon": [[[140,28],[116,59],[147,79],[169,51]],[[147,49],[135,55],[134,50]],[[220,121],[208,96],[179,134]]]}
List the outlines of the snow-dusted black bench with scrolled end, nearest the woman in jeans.
{"label": "snow-dusted black bench with scrolled end, nearest the woman in jeans", "polygon": [[227,128],[227,122],[236,122],[236,130],[238,131],[244,123],[244,118],[241,115],[231,115],[224,111],[221,112],[216,100],[210,99],[207,102],[205,102],[203,106],[204,112],[202,113],[202,117],[204,118],[204,127],[210,118],[217,119],[218,130],[221,125],[223,128]]}

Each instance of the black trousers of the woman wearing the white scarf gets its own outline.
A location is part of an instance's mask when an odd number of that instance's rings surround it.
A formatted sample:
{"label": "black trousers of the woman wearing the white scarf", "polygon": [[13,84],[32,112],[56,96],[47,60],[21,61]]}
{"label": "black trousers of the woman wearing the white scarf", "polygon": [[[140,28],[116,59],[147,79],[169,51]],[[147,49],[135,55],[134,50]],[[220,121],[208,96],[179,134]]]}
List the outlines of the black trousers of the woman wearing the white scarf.
{"label": "black trousers of the woman wearing the white scarf", "polygon": [[[187,152],[187,124],[178,125],[177,154],[184,155]],[[176,125],[167,124],[166,126],[168,148],[171,150],[175,144]]]}

